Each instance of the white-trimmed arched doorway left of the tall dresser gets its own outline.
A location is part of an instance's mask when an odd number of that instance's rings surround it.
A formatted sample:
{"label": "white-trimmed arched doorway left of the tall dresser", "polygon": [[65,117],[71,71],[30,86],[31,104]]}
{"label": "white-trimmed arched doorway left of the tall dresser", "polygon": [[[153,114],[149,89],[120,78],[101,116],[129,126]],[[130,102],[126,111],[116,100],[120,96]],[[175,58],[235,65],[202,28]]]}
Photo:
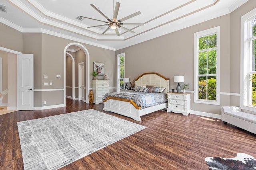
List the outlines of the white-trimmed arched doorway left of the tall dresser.
{"label": "white-trimmed arched doorway left of the tall dresser", "polygon": [[[63,75],[64,75],[64,88],[66,87],[66,55],[67,54],[67,49],[68,47],[72,46],[72,45],[75,45],[77,47],[80,47],[84,53],[85,53],[85,56],[86,56],[86,74],[85,74],[85,80],[86,80],[86,84],[85,84],[85,102],[86,103],[89,103],[89,100],[88,100],[88,94],[89,94],[89,90],[90,90],[90,55],[89,55],[89,52],[88,50],[86,49],[86,47],[84,47],[84,45],[80,44],[80,43],[69,43],[68,45],[66,45],[66,47],[64,48],[64,70],[63,70]],[[73,62],[74,63],[74,62]],[[72,73],[73,77],[74,77],[74,73]],[[74,78],[73,78],[74,79]],[[72,80],[72,83],[74,83],[74,80]],[[74,84],[72,85],[72,87],[74,88]],[[72,92],[74,94],[74,91],[73,91],[73,88],[72,88]],[[73,95],[74,97],[74,95]],[[64,105],[66,106],[66,88],[64,90],[64,97],[63,97],[63,100],[64,100]]]}

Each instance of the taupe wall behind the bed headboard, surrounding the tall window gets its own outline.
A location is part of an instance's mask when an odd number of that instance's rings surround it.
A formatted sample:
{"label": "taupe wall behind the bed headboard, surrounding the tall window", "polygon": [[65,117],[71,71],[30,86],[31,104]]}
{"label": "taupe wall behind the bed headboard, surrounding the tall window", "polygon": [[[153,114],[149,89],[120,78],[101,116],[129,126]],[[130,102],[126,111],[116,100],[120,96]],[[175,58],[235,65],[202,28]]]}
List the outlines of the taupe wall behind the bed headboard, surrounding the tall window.
{"label": "taupe wall behind the bed headboard, surrounding the tall window", "polygon": [[[194,90],[194,33],[220,26],[220,92],[230,92],[230,14],[116,51],[125,53],[125,76],[131,82],[145,72],[158,72],[170,78],[176,89],[175,75],[184,75],[188,91]],[[136,69],[134,69],[136,68]],[[220,114],[220,106],[194,103],[191,109]],[[221,95],[221,106],[229,106],[229,96]]]}

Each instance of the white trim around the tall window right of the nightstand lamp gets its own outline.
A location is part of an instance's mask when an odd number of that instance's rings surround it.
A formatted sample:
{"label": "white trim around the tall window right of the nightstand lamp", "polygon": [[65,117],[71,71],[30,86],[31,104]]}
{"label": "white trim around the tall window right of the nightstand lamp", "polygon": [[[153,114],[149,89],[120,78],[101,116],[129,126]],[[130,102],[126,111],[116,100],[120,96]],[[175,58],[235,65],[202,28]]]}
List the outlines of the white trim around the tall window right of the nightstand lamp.
{"label": "white trim around the tall window right of the nightstand lamp", "polygon": [[[216,101],[198,99],[198,38],[217,33]],[[220,105],[220,26],[194,33],[194,103]]]}

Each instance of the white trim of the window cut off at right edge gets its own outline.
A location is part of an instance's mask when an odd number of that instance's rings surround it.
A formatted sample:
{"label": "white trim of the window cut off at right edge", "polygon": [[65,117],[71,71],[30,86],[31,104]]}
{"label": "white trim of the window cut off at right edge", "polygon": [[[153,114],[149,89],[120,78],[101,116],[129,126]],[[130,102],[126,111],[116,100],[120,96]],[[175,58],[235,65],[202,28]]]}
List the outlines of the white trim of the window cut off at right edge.
{"label": "white trim of the window cut off at right edge", "polygon": [[[248,106],[248,100],[250,100],[250,95],[248,94],[248,86],[250,86],[250,78],[248,77],[248,23],[251,19],[256,17],[256,9],[248,12],[241,17],[241,75],[240,75],[240,107],[242,109],[256,111],[256,107]],[[245,81],[247,80],[247,81]]]}

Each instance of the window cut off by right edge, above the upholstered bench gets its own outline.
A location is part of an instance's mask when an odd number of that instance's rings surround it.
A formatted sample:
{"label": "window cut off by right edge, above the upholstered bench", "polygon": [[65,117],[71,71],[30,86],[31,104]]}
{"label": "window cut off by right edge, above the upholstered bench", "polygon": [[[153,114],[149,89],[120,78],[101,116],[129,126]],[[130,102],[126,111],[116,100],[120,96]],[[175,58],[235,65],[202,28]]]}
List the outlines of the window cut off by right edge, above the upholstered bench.
{"label": "window cut off by right edge, above the upholstered bench", "polygon": [[241,107],[256,111],[256,10],[241,18]]}

